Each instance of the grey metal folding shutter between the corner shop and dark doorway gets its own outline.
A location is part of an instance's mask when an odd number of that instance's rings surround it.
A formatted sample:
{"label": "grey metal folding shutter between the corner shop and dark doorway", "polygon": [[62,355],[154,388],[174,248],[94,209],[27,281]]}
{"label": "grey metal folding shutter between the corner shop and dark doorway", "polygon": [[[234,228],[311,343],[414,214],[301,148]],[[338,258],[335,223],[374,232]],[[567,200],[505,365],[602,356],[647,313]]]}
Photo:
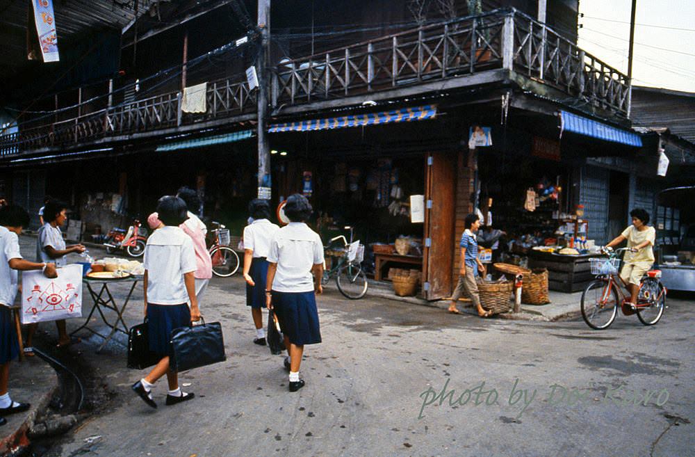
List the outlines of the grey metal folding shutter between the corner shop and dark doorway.
{"label": "grey metal folding shutter between the corner shop and dark doorway", "polygon": [[584,205],[584,218],[589,221],[589,239],[596,244],[607,243],[608,230],[608,179],[605,168],[584,166],[580,184],[579,201]]}

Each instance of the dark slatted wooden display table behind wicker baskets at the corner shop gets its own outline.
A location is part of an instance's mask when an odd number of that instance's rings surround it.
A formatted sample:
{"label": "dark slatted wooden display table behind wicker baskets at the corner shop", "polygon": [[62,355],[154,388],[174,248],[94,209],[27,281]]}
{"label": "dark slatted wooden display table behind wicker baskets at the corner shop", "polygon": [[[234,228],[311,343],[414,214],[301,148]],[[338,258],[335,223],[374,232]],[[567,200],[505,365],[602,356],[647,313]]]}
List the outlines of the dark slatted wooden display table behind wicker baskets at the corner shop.
{"label": "dark slatted wooden display table behind wicker baskets at the corner shop", "polygon": [[548,289],[571,293],[584,290],[594,280],[591,257],[600,254],[561,255],[532,250],[528,262],[530,268],[548,268]]}

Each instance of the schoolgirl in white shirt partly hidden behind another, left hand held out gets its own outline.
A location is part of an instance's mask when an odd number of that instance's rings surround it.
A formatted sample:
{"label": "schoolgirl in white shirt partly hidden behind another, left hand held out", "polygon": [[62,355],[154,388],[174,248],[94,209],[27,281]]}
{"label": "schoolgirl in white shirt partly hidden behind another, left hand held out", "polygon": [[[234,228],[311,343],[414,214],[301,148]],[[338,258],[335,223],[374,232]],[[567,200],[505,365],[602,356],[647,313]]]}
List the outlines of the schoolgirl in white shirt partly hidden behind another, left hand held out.
{"label": "schoolgirl in white shirt partly hidden behind another, left hand held out", "polygon": [[244,228],[244,280],[246,281],[246,305],[256,326],[254,343],[265,346],[263,314],[265,306],[265,280],[268,278],[268,252],[270,242],[280,227],[270,222],[268,200],[256,198],[249,203],[253,222]]}

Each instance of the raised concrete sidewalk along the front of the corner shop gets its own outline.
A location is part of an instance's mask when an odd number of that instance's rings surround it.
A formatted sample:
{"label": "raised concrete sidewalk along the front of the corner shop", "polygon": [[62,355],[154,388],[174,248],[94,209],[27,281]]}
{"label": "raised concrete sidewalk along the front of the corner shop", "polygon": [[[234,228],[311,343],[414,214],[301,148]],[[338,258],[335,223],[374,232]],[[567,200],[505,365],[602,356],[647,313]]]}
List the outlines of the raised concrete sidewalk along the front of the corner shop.
{"label": "raised concrete sidewalk along the front of the corner shop", "polygon": [[[428,301],[419,297],[399,297],[393,292],[393,287],[391,284],[384,281],[377,282],[370,280],[369,290],[367,291],[366,297],[370,296],[402,301],[404,303],[411,303],[414,305],[436,307],[441,310],[446,310],[449,307],[448,300]],[[522,303],[521,312],[497,314],[496,317],[499,319],[511,319],[517,321],[550,322],[560,319],[573,319],[581,315],[582,311],[580,309],[580,303],[582,299],[582,292],[564,294],[562,292],[549,291],[548,296],[550,298],[550,303],[548,303],[548,305],[525,305]],[[477,312],[473,310],[469,300],[462,299],[459,302],[459,310],[466,314],[477,316]]]}

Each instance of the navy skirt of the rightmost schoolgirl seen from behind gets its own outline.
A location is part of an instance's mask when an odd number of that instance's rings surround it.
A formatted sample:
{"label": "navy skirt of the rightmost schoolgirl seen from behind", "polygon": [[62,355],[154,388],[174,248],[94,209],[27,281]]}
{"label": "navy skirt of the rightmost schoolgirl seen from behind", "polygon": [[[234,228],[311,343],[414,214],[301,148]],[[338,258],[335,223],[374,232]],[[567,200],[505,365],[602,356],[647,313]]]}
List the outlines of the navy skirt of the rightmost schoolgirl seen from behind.
{"label": "navy skirt of the rightmost schoolgirl seen from behind", "polygon": [[316,296],[311,292],[272,292],[272,307],[280,330],[290,342],[302,346],[321,342]]}

